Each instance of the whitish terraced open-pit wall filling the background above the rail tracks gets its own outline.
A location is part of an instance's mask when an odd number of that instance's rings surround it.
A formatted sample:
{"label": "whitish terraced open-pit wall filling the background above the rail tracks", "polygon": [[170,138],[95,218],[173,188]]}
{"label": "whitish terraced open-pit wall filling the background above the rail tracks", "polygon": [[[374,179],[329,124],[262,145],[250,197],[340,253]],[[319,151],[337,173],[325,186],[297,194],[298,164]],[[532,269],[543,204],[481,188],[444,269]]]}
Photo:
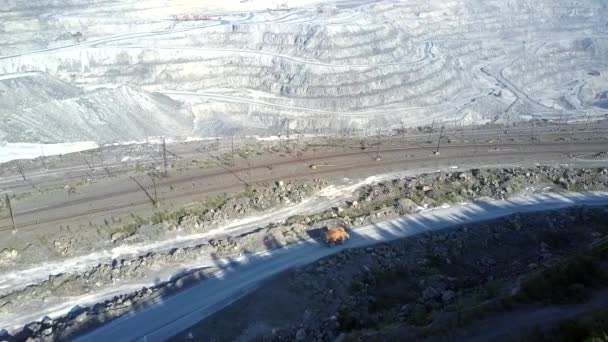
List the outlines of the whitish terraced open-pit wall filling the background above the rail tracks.
{"label": "whitish terraced open-pit wall filling the background above the rail tracks", "polygon": [[[607,7],[14,1],[0,30],[0,78],[8,77],[0,81],[0,134],[12,142],[108,141],[602,116]],[[28,111],[23,99],[52,105]],[[81,123],[40,127],[63,113]],[[98,129],[107,116],[121,129]]]}

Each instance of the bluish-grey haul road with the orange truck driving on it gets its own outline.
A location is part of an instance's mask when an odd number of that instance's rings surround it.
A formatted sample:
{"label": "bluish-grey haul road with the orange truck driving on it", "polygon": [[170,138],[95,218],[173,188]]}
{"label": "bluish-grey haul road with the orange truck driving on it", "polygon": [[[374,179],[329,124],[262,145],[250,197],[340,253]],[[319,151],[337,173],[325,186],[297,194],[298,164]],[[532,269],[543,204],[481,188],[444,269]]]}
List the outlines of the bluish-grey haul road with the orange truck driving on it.
{"label": "bluish-grey haul road with the orange truck driving on it", "polygon": [[480,201],[358,228],[351,232],[351,240],[346,246],[328,248],[310,240],[266,255],[240,258],[233,266],[217,271],[216,278],[205,280],[166,298],[162,298],[161,294],[151,300],[148,306],[102,326],[77,341],[163,341],[239,299],[262,280],[347,247],[366,246],[515,212],[552,210],[575,205],[608,205],[608,192],[539,194],[507,201]]}

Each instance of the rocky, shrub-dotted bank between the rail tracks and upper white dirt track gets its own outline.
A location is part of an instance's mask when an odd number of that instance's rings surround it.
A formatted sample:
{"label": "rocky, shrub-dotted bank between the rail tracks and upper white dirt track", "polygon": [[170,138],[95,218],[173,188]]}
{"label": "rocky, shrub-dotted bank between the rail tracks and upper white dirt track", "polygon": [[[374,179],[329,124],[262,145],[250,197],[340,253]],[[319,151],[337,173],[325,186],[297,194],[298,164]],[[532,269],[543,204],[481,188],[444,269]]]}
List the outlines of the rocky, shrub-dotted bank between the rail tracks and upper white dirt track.
{"label": "rocky, shrub-dotted bank between the rail tracks and upper white dirt track", "polygon": [[[9,241],[2,244],[5,247],[0,247],[0,271],[86,255],[94,250],[203,233],[221,227],[229,220],[298,203],[326,185],[327,182],[321,179],[260,183],[247,186],[244,191],[231,196],[221,194],[203,198],[188,209],[159,209],[150,217],[133,216],[129,220],[121,220],[123,222],[106,220],[107,224],[101,227],[81,225],[74,227],[73,231],[68,229],[33,241],[26,241],[18,234],[9,236]],[[74,234],[76,229],[78,234]]]}

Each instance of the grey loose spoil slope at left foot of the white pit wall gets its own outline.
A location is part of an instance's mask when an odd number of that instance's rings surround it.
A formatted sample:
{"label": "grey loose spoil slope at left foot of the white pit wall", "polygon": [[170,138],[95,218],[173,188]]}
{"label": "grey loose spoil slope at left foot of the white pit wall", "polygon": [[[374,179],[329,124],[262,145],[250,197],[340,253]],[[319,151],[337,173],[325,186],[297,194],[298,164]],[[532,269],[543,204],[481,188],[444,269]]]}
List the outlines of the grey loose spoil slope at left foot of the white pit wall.
{"label": "grey loose spoil slope at left foot of the white pit wall", "polygon": [[121,86],[83,91],[48,75],[0,80],[0,137],[8,142],[112,142],[183,136],[192,116],[160,94]]}

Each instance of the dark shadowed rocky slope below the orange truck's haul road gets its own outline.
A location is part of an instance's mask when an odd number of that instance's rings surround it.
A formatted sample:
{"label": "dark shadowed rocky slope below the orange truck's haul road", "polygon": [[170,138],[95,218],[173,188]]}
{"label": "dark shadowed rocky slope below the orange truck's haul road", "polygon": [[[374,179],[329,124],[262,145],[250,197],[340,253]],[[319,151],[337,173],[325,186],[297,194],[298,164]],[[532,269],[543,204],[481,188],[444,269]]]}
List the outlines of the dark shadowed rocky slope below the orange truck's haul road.
{"label": "dark shadowed rocky slope below the orange truck's haul road", "polygon": [[[607,215],[608,207],[516,214],[346,249],[271,280],[174,340],[479,338],[473,322],[484,316],[584,303],[608,287]],[[498,320],[492,340],[556,323],[541,318],[510,325],[507,316],[509,331]]]}

